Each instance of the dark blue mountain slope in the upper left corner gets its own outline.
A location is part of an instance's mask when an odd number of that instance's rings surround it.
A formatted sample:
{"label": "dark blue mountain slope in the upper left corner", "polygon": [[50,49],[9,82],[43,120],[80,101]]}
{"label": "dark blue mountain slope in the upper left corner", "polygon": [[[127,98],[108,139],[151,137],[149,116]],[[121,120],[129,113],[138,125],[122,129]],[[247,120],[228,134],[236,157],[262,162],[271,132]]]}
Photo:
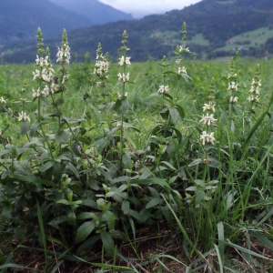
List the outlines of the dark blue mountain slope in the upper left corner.
{"label": "dark blue mountain slope in the upper left corner", "polygon": [[42,28],[45,37],[93,25],[92,19],[48,0],[0,0],[0,46],[35,38]]}

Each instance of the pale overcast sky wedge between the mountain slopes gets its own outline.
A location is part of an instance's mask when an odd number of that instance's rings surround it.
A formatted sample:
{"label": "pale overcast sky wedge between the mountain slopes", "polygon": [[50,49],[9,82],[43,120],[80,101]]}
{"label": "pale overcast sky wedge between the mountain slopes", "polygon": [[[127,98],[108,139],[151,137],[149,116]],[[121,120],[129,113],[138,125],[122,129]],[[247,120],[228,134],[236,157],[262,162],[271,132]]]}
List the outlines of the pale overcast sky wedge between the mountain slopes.
{"label": "pale overcast sky wedge between the mountain slopes", "polygon": [[191,4],[196,4],[201,0],[99,0],[100,2],[112,5],[116,9],[122,10],[127,14],[132,14],[135,18],[152,15],[164,14],[173,9],[182,9]]}

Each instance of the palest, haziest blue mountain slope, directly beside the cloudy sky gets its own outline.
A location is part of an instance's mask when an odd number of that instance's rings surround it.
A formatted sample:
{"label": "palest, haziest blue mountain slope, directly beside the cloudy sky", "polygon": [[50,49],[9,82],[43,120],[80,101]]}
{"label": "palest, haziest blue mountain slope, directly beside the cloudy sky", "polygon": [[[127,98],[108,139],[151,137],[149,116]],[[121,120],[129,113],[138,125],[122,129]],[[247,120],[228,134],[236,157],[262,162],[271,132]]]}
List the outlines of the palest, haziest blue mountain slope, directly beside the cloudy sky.
{"label": "palest, haziest blue mountain slope, directly beside the cloudy sky", "polygon": [[94,24],[106,24],[121,20],[133,20],[132,15],[128,15],[116,8],[103,4],[98,0],[50,0],[56,5],[65,7],[79,15],[84,15]]}

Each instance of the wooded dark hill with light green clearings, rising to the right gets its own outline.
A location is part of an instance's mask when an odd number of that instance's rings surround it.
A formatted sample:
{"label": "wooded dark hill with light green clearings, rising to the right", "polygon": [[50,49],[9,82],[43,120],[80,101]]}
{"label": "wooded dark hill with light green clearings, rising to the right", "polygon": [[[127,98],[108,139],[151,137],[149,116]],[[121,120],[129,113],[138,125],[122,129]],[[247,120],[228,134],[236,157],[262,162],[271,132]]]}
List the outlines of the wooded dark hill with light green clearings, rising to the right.
{"label": "wooded dark hill with light green clearings, rising to the right", "polygon": [[[96,47],[100,42],[104,52],[116,57],[117,48],[121,46],[121,35],[126,29],[132,60],[145,61],[149,57],[161,59],[164,55],[172,56],[176,45],[181,45],[179,31],[183,22],[187,22],[187,46],[196,52],[198,57],[234,54],[234,49],[237,50],[241,45],[235,43],[233,47],[225,48],[228,41],[260,28],[267,32],[265,43],[252,45],[250,36],[246,35],[243,41],[238,41],[244,44],[241,54],[263,56],[266,46],[272,44],[272,0],[203,0],[196,5],[173,10],[165,15],[148,15],[140,20],[120,21],[70,31],[68,40],[72,50],[79,56],[89,52],[92,58],[95,57]],[[55,50],[60,40],[61,36],[58,36],[46,40],[45,44]],[[33,61],[34,54],[35,45],[25,44],[24,47],[20,45],[7,48],[3,57],[7,62]],[[31,59],[28,57],[30,55]]]}

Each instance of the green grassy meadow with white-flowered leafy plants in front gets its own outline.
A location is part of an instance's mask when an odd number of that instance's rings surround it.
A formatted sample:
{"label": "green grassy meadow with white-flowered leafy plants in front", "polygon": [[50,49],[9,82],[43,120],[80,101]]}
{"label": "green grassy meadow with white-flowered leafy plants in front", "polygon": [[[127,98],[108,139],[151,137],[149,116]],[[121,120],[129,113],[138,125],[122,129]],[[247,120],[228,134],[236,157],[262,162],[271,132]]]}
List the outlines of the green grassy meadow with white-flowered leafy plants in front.
{"label": "green grassy meadow with white-flowered leafy plants in front", "polygon": [[186,33],[77,63],[38,29],[0,65],[0,272],[273,272],[273,61],[186,57]]}

